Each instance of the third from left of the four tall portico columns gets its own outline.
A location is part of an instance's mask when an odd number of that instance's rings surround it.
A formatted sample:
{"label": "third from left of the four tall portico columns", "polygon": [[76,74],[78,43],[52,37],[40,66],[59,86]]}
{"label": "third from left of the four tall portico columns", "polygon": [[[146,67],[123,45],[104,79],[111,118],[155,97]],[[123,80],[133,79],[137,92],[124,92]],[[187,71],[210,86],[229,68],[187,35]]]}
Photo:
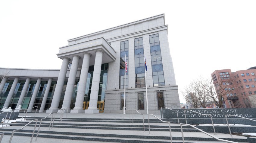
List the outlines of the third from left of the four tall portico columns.
{"label": "third from left of the four tall portico columns", "polygon": [[87,74],[89,70],[89,62],[90,62],[91,54],[84,53],[83,55],[83,65],[81,69],[80,79],[79,79],[79,86],[77,89],[76,95],[76,104],[73,110],[70,113],[84,113],[83,110],[83,101],[85,95],[85,88],[86,88],[86,81],[87,81]]}

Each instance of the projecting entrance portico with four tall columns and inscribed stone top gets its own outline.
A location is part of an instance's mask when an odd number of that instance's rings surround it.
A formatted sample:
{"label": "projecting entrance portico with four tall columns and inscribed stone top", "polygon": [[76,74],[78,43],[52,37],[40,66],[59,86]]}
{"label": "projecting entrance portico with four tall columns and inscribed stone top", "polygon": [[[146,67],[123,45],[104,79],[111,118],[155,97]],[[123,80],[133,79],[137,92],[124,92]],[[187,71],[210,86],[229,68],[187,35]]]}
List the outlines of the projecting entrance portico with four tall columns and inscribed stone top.
{"label": "projecting entrance portico with four tall columns and inscribed stone top", "polygon": [[[64,85],[65,77],[68,77],[66,92],[61,109],[69,108],[73,93],[73,86],[76,79],[77,69],[81,67],[79,86],[77,90],[76,103],[71,113],[99,113],[97,109],[98,87],[101,72],[101,63],[114,62],[116,60],[116,51],[103,38],[88,40],[74,45],[60,47],[57,56],[63,60],[60,74],[58,77],[56,89],[53,95],[51,107],[46,111],[48,113],[58,112],[58,106],[61,98],[61,91]],[[71,63],[70,73],[67,76],[67,66]],[[94,65],[94,74],[92,78],[92,89],[89,108],[83,110],[83,100],[85,96],[85,86],[89,66]]]}

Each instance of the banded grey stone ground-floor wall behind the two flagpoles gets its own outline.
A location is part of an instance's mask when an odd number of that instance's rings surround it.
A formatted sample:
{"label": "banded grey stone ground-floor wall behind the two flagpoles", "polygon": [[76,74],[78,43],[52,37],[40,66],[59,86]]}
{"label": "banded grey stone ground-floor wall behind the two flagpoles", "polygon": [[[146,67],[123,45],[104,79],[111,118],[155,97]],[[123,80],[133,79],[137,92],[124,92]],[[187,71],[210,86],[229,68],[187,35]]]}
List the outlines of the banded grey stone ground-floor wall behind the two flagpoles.
{"label": "banded grey stone ground-floor wall behind the two flagpoles", "polygon": [[[164,105],[168,108],[179,108],[180,99],[178,95],[178,86],[159,86],[148,88],[148,109],[155,114],[160,114],[158,109],[157,92],[164,93]],[[120,113],[121,110],[121,94],[123,89],[106,90],[104,112]],[[126,107],[128,109],[138,110],[138,93],[144,93],[144,110],[147,111],[145,88],[126,89]],[[143,110],[142,110],[143,111]],[[158,113],[156,113],[158,112]],[[151,114],[151,112],[149,112]]]}

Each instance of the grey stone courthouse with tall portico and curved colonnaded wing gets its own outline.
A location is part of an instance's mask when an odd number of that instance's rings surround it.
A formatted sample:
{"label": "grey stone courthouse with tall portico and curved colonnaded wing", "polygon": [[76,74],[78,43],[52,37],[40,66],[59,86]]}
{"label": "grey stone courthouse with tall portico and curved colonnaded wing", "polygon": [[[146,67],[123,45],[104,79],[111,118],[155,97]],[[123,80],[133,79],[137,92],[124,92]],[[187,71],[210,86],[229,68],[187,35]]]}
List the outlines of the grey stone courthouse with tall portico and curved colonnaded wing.
{"label": "grey stone courthouse with tall portico and curved colonnaded wing", "polygon": [[180,108],[164,14],[69,39],[57,56],[58,70],[0,68],[0,108],[121,113],[125,88],[126,107],[145,113],[145,86],[149,113]]}

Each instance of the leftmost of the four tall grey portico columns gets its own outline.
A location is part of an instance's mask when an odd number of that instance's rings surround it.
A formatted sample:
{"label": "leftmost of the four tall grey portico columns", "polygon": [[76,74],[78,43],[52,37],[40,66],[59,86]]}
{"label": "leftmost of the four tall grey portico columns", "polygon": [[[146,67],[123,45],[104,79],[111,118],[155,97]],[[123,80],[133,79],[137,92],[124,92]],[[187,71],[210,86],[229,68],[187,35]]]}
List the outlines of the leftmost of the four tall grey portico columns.
{"label": "leftmost of the four tall grey portico columns", "polygon": [[61,100],[61,92],[63,89],[65,77],[67,74],[67,67],[70,59],[69,58],[63,58],[61,70],[59,73],[58,81],[56,83],[55,91],[52,98],[52,104],[50,109],[46,110],[46,113],[56,113],[58,112],[60,100]]}

